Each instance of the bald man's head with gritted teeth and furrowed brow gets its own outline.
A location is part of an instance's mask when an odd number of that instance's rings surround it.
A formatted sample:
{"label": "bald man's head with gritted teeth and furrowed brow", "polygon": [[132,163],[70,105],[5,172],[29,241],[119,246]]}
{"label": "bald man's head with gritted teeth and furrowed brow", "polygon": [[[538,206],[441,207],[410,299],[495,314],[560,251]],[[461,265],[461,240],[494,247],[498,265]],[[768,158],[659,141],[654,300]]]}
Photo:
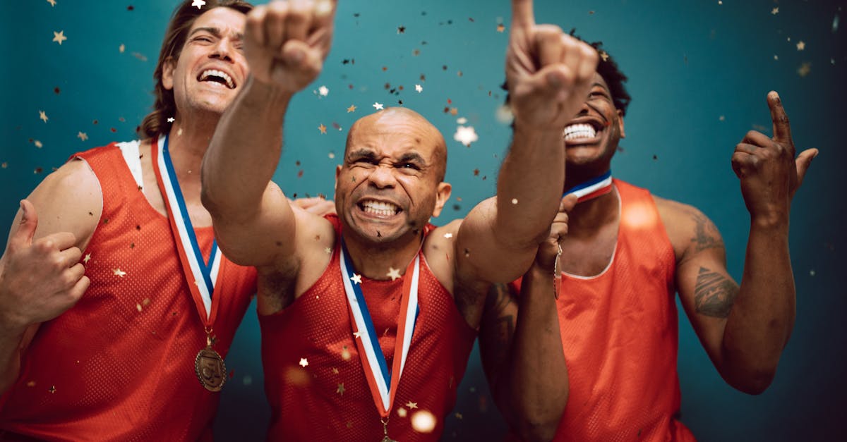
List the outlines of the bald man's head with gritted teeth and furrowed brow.
{"label": "bald man's head with gritted teeth and furrowed brow", "polygon": [[345,235],[374,242],[417,240],[450,197],[444,137],[418,113],[389,108],[359,119],[335,171],[335,207]]}

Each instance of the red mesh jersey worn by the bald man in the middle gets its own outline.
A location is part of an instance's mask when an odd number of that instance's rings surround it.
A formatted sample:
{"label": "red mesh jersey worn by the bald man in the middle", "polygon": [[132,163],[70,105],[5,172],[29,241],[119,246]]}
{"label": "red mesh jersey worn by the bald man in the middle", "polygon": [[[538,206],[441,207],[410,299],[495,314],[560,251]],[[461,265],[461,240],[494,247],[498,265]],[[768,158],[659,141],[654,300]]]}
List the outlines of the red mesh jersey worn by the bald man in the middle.
{"label": "red mesh jersey worn by the bald man in the middle", "polygon": [[[335,225],[336,237],[340,236],[338,218],[327,218]],[[379,412],[353,341],[339,253],[336,240],[329,266],[318,282],[282,312],[259,316],[265,392],[271,405],[270,440],[382,439]],[[401,288],[407,277],[411,275],[395,281],[362,279],[389,367],[395,356]],[[476,337],[426,260],[421,260],[419,278],[420,313],[388,424],[389,436],[403,442],[439,439]],[[302,358],[306,367],[300,365]],[[401,407],[406,417],[398,415]],[[410,418],[422,410],[435,417],[429,434],[418,433],[410,425]]]}

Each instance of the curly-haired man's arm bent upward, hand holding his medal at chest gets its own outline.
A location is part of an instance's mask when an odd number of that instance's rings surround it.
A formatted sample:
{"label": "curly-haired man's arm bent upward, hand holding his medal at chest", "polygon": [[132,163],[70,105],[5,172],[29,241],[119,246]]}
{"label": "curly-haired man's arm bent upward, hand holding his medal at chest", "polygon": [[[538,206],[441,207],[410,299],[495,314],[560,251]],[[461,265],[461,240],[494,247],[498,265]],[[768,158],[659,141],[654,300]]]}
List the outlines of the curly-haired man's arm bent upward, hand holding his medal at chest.
{"label": "curly-haired man's arm bent upward, hand holding his medal at chest", "polygon": [[552,439],[567,405],[556,257],[576,200],[573,195],[562,199],[549,236],[523,275],[520,296],[509,290],[512,285],[493,287],[479,329],[479,352],[495,403],[522,440]]}

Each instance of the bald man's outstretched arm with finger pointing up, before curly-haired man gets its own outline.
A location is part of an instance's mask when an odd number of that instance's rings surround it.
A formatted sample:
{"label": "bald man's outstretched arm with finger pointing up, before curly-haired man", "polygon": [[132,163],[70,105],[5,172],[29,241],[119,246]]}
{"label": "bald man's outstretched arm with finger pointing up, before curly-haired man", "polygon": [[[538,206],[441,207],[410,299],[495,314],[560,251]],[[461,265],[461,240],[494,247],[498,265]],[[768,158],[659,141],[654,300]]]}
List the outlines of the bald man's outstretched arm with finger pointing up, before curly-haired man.
{"label": "bald man's outstretched arm with finger pointing up, before curly-haired man", "polygon": [[460,273],[509,282],[529,268],[562,197],[562,130],[588,95],[597,59],[558,27],[535,25],[531,0],[512,1],[506,76],[514,136],[497,196],[474,207],[457,235]]}

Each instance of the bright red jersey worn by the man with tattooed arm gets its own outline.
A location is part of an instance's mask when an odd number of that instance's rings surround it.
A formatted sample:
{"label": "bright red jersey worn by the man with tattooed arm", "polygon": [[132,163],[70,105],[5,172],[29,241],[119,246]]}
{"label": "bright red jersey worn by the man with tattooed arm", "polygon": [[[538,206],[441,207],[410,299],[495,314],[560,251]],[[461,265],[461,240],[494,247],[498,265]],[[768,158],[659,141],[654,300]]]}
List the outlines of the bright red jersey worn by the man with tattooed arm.
{"label": "bright red jersey worn by the man with tattooed arm", "polygon": [[556,441],[694,440],[679,411],[676,260],[650,193],[614,180],[612,263],[562,273],[557,307],[570,394]]}

